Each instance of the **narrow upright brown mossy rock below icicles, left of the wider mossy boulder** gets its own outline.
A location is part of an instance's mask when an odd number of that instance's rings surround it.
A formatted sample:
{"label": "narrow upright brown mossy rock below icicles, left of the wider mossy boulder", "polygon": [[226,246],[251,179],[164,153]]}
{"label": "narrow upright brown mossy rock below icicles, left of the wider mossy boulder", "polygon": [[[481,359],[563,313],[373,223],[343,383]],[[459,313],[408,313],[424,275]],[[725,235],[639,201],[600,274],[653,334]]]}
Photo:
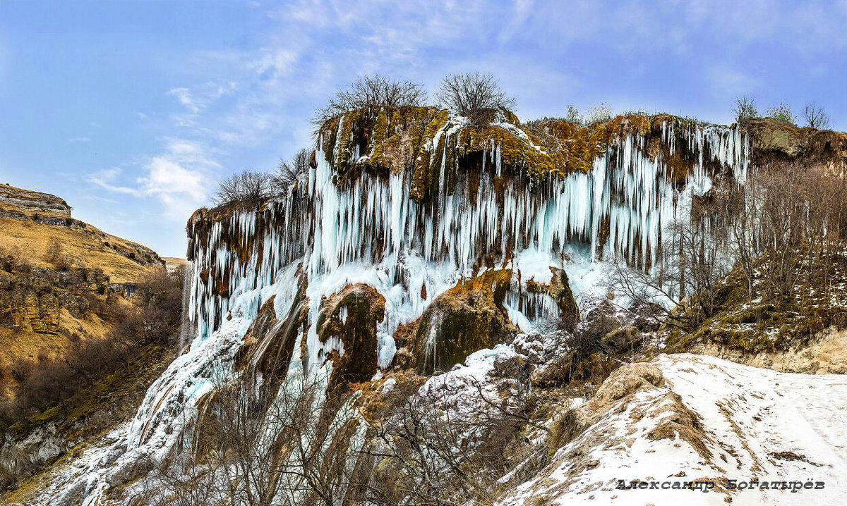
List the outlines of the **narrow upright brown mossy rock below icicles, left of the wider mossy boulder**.
{"label": "narrow upright brown mossy rock below icicles, left of the wider mossy boulder", "polygon": [[340,338],[344,353],[332,352],[331,385],[369,381],[377,366],[377,323],[385,318],[385,297],[363,283],[349,284],[322,303],[318,338]]}

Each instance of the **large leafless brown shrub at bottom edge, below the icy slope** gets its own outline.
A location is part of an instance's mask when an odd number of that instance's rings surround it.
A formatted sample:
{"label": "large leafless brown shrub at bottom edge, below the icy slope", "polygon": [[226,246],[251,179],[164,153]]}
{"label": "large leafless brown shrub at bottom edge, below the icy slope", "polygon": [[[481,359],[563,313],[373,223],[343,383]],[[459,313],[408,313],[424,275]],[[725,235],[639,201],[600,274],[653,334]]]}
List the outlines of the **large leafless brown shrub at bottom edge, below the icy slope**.
{"label": "large leafless brown shrub at bottom edge, below the icy slope", "polygon": [[[202,406],[197,431],[147,478],[149,504],[325,504],[344,498],[356,421],[345,398],[318,383],[289,378],[285,393],[247,376],[219,382]],[[340,415],[338,415],[340,414]],[[338,416],[336,416],[338,415]],[[185,498],[192,501],[185,503]]]}

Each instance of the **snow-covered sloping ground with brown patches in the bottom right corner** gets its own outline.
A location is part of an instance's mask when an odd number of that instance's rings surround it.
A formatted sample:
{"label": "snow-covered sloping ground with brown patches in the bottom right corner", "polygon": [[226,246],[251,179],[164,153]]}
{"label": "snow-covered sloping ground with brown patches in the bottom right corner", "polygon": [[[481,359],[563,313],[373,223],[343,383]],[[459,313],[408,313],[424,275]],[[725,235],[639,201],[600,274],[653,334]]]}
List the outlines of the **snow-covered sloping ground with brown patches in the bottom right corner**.
{"label": "snow-covered sloping ground with brown patches in the bottom right corner", "polygon": [[[847,376],[706,355],[661,355],[651,364],[664,377],[659,386],[645,382],[607,405],[503,504],[847,503]],[[625,489],[620,480],[647,483]],[[715,485],[682,488],[689,481]]]}

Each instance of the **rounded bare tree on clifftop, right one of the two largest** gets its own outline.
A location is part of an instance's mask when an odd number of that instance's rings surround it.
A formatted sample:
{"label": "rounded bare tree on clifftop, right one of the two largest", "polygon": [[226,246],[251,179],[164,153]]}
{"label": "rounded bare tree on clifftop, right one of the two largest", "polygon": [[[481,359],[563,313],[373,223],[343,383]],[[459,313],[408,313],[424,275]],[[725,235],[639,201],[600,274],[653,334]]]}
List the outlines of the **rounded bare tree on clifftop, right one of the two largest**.
{"label": "rounded bare tree on clifftop, right one of the two largest", "polygon": [[441,107],[468,118],[473,124],[488,124],[498,110],[515,106],[491,74],[470,72],[451,74],[441,81],[438,101]]}

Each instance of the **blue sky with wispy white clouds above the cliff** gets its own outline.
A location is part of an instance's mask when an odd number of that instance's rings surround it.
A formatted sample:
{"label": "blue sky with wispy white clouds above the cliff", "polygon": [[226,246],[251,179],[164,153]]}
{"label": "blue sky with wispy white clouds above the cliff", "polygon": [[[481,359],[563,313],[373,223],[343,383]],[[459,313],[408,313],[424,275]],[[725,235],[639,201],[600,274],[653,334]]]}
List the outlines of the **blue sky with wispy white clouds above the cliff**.
{"label": "blue sky with wispy white clouds above the cliff", "polygon": [[524,120],[567,104],[731,121],[815,101],[847,129],[847,0],[0,0],[0,182],[166,256],[216,181],[311,143],[359,74],[495,74]]}

